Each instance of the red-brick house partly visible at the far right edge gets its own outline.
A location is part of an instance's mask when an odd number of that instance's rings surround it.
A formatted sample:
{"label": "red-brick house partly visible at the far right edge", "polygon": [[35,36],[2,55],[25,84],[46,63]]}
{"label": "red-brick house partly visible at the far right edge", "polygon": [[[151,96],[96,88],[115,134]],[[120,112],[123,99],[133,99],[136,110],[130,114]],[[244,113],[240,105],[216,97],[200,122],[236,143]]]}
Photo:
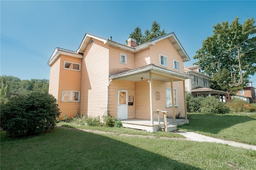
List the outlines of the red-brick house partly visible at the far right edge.
{"label": "red-brick house partly visible at the far right edge", "polygon": [[252,86],[252,81],[249,81],[248,85],[238,91],[234,97],[240,97],[248,103],[256,103],[255,100],[255,87]]}

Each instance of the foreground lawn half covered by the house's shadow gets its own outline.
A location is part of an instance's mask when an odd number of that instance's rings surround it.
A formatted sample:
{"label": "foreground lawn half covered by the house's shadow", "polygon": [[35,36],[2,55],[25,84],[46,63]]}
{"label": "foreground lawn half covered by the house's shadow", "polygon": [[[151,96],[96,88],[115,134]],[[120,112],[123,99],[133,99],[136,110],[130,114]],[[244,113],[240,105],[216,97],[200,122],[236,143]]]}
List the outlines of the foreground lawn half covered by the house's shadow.
{"label": "foreground lawn half covered by the house's shadow", "polygon": [[62,127],[29,138],[0,134],[1,170],[256,169],[256,151],[216,143],[94,134]]}

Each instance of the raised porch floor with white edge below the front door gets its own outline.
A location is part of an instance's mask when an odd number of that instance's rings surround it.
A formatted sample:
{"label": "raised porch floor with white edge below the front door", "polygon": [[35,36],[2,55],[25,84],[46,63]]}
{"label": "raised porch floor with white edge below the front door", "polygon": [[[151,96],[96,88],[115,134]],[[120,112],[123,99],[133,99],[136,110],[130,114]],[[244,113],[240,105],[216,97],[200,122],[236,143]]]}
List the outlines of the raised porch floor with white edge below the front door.
{"label": "raised porch floor with white edge below the front door", "polygon": [[[174,122],[172,118],[166,118],[167,119],[167,126],[168,125],[175,125],[180,126],[188,123],[188,119],[176,119]],[[160,119],[160,127],[158,126],[158,119],[154,119],[154,125],[151,125],[150,119],[124,119],[120,120],[122,122],[123,127],[128,128],[135,128],[140,130],[147,130],[149,132],[158,131],[159,128],[164,127],[164,119]]]}

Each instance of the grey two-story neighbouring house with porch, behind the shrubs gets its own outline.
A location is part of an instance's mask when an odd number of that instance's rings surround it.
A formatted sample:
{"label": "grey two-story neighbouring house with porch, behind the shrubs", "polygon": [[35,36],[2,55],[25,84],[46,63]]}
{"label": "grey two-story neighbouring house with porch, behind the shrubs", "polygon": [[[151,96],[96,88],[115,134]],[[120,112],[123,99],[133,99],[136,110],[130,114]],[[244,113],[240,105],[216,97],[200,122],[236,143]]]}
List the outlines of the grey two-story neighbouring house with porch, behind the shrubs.
{"label": "grey two-story neighbouring house with porch, behind the shrubs", "polygon": [[184,74],[190,75],[192,78],[186,79],[186,91],[192,93],[194,97],[206,97],[215,95],[222,102],[225,101],[226,92],[214,90],[210,88],[211,77],[202,73],[202,67],[192,65],[184,67]]}

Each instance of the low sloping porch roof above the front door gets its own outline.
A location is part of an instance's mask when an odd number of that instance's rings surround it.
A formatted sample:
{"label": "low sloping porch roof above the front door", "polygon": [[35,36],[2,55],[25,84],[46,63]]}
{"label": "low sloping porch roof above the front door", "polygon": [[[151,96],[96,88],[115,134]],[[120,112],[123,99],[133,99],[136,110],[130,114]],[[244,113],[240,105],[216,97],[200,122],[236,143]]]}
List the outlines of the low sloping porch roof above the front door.
{"label": "low sloping porch roof above the front door", "polygon": [[173,81],[182,81],[185,79],[190,79],[192,77],[184,75],[182,73],[177,73],[154,64],[146,65],[137,69],[132,69],[123,73],[118,73],[115,75],[110,75],[110,79],[115,80],[126,80],[126,81],[141,81],[149,79],[149,73],[152,73],[152,78],[154,80],[159,80],[163,82],[169,82],[170,78]]}

